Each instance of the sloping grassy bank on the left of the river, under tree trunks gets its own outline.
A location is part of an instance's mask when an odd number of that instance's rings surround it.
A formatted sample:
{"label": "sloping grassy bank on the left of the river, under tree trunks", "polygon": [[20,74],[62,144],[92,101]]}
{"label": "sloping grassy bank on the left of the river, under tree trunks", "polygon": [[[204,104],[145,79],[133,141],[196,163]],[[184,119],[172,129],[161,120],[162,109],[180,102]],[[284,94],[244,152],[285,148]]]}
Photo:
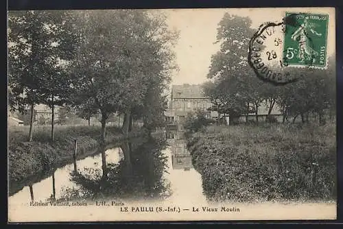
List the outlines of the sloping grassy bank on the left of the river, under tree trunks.
{"label": "sloping grassy bank on the left of the river, under tree trunks", "polygon": [[[55,142],[50,143],[49,126],[34,127],[33,141],[27,142],[28,128],[14,127],[8,131],[8,178],[10,184],[21,182],[56,165],[73,160],[75,139],[78,158],[93,154],[99,146],[100,126],[57,126]],[[143,134],[138,129],[128,137]],[[115,126],[106,128],[106,143],[121,141],[125,136]]]}

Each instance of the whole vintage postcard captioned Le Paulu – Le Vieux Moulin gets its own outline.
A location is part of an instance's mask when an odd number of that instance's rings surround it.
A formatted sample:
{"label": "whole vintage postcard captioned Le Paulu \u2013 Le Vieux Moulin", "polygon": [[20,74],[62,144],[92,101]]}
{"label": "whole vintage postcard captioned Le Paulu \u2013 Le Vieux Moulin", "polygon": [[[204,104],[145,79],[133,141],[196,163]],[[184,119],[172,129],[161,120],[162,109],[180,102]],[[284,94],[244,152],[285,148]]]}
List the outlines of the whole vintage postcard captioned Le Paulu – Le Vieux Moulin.
{"label": "whole vintage postcard captioned Le Paulu \u2013 Le Vieux Moulin", "polygon": [[334,8],[8,12],[8,220],[336,219]]}

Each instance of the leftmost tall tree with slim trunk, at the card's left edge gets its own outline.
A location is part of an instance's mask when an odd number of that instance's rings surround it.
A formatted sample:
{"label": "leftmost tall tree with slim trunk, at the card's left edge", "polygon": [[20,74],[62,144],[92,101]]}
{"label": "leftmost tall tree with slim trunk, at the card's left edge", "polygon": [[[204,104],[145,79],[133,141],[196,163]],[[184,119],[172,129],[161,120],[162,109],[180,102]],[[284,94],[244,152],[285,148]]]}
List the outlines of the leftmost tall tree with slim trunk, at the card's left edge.
{"label": "leftmost tall tree with slim trunk, at the card's left edge", "polygon": [[45,15],[34,11],[8,13],[8,97],[12,111],[30,110],[29,137],[32,141],[34,105],[41,101],[40,76],[45,67],[47,38]]}

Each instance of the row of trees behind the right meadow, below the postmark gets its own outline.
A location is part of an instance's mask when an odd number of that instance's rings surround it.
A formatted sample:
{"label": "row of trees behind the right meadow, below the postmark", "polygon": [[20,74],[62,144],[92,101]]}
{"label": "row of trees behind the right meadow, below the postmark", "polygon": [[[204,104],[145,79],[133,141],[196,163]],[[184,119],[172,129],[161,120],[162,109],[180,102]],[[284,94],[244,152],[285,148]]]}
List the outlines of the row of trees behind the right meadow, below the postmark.
{"label": "row of trees behind the right meadow, below the postmark", "polygon": [[324,123],[324,113],[335,113],[335,60],[329,58],[326,70],[294,69],[291,74],[299,76],[298,82],[274,86],[255,75],[247,62],[248,44],[255,30],[247,17],[225,14],[219,23],[217,43],[220,50],[212,56],[211,67],[203,85],[204,93],[211,99],[211,110],[229,115],[233,120],[255,113],[268,104],[268,119],[277,104],[287,117],[301,116],[307,121],[309,113],[318,115]]}

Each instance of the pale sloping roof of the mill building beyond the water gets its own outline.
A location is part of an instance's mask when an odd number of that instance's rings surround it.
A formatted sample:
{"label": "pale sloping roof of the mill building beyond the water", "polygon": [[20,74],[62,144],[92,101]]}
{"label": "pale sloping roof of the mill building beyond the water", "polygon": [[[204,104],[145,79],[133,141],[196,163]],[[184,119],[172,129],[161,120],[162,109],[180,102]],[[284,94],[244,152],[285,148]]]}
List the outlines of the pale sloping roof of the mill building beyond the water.
{"label": "pale sloping roof of the mill building beyond the water", "polygon": [[171,93],[173,98],[206,98],[200,84],[173,85]]}

